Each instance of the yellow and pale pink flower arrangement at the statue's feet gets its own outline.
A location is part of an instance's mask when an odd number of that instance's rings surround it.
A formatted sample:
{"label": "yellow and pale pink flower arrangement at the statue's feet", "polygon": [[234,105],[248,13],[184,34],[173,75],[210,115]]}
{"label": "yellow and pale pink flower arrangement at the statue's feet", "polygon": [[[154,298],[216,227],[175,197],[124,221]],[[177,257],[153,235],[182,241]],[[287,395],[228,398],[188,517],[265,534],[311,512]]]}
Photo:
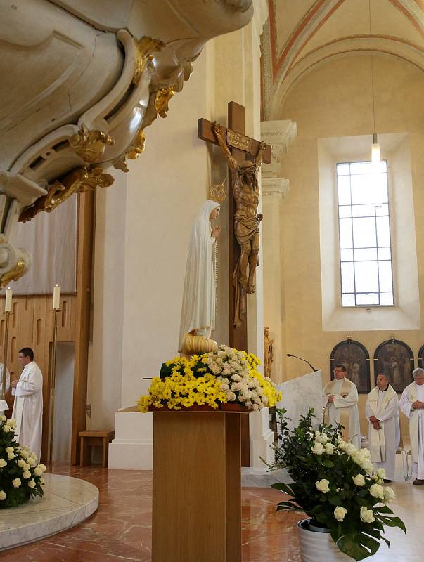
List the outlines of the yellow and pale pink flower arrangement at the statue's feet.
{"label": "yellow and pale pink flower arrangement at the statue's feet", "polygon": [[147,396],[139,398],[141,412],[150,406],[171,410],[181,407],[238,403],[252,410],[271,407],[281,393],[257,370],[259,359],[252,353],[220,346],[218,351],[176,357],[167,361],[154,377]]}

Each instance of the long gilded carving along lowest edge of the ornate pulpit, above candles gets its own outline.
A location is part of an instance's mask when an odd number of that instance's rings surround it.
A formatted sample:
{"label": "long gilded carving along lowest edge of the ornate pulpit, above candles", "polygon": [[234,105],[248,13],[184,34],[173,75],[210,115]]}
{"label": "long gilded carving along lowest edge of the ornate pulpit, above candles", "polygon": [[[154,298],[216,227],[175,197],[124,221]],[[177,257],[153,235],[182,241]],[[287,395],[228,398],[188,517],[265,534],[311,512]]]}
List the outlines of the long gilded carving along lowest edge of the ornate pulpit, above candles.
{"label": "long gilded carving along lowest edge of the ornate pulpit, above candles", "polygon": [[113,177],[104,174],[103,168],[76,168],[69,174],[49,185],[46,195],[39,197],[32,205],[25,207],[20,214],[19,221],[25,223],[34,218],[39,212],[51,213],[60,203],[63,203],[74,193],[84,193],[96,188],[107,188],[113,184]]}

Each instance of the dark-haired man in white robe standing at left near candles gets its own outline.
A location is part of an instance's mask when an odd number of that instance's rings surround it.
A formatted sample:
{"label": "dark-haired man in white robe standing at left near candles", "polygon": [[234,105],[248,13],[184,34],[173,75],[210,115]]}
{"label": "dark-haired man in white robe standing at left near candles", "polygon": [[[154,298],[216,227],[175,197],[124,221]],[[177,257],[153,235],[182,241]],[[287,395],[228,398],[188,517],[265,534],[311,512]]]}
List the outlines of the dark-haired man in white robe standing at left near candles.
{"label": "dark-haired man in white robe standing at left near candles", "polygon": [[15,395],[12,417],[16,420],[15,440],[27,445],[40,459],[41,432],[43,429],[43,375],[36,362],[34,352],[25,347],[18,353],[23,372],[19,381],[12,381]]}

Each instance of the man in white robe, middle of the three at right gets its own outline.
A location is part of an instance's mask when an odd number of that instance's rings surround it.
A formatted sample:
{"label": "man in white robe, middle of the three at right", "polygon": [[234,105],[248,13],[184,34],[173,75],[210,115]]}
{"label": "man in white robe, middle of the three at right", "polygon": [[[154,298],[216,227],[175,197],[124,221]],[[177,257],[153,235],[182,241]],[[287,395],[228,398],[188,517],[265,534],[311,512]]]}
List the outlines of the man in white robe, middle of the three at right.
{"label": "man in white robe, middle of the three at right", "polygon": [[385,482],[394,478],[394,462],[400,440],[399,398],[385,374],[377,375],[377,386],[368,394],[365,414],[375,471],[385,469]]}

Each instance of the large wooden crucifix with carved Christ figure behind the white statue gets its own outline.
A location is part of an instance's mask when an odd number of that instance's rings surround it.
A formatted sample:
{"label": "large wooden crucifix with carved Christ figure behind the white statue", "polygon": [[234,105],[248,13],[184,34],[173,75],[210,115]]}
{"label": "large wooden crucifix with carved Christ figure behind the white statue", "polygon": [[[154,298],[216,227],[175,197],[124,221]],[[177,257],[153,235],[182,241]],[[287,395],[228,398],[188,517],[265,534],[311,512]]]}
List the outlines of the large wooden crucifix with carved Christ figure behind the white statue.
{"label": "large wooden crucifix with carved Christ figure behind the white statue", "polygon": [[[229,164],[229,345],[248,351],[246,294],[255,292],[259,251],[257,173],[271,162],[271,147],[245,136],[245,108],[228,104],[228,129],[207,119],[198,120],[198,138],[221,147]],[[248,178],[248,182],[243,178]],[[252,184],[251,188],[248,187]]]}

